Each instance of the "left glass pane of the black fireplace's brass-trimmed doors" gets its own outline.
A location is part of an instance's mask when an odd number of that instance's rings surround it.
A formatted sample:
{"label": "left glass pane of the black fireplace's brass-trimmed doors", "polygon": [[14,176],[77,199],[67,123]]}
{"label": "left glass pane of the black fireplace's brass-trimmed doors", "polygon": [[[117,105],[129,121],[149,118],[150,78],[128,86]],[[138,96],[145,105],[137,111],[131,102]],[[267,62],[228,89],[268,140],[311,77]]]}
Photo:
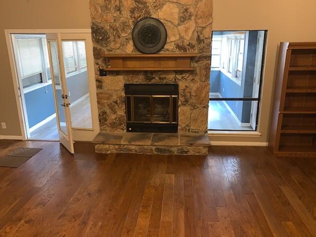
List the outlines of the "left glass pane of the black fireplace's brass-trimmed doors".
{"label": "left glass pane of the black fireplace's brass-trimmed doors", "polygon": [[134,122],[150,122],[150,96],[133,96]]}

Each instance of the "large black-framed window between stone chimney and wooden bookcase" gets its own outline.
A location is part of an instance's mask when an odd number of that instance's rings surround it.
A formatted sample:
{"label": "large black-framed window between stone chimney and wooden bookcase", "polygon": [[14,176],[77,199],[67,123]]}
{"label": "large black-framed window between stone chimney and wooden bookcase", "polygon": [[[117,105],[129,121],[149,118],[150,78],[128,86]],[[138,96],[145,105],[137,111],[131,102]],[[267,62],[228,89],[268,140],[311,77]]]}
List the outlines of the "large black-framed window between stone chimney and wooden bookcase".
{"label": "large black-framed window between stone chimney and wooden bookcase", "polygon": [[213,32],[209,130],[257,130],[265,38],[265,31]]}

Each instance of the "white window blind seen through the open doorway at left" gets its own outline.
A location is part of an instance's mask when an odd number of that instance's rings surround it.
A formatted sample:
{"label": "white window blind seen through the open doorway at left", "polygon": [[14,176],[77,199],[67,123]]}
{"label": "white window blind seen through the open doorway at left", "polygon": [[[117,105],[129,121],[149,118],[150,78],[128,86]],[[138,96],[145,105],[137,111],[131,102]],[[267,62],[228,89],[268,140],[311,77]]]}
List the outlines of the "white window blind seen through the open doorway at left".
{"label": "white window blind seen through the open doorway at left", "polygon": [[41,73],[41,39],[17,39],[16,45],[16,57],[22,79]]}

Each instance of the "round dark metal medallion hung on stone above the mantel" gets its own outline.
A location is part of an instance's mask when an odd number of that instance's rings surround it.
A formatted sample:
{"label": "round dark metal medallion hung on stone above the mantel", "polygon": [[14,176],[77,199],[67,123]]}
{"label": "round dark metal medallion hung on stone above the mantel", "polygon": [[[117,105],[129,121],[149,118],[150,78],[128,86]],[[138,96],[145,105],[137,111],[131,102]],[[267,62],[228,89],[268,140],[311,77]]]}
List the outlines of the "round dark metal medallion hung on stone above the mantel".
{"label": "round dark metal medallion hung on stone above the mantel", "polygon": [[133,42],[143,53],[156,53],[163,48],[167,41],[167,31],[163,23],[156,18],[140,19],[134,26]]}

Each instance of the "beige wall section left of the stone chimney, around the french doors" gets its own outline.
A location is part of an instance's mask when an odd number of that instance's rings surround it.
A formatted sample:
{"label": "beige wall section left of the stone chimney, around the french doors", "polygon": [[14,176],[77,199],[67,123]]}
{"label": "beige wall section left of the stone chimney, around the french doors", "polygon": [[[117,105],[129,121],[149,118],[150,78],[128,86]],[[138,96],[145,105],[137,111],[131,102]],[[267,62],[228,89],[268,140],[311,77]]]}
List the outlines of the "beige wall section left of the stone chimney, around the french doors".
{"label": "beige wall section left of the stone chimney, around the french doors", "polygon": [[0,1],[0,135],[21,135],[4,29],[67,28],[90,28],[89,0]]}

